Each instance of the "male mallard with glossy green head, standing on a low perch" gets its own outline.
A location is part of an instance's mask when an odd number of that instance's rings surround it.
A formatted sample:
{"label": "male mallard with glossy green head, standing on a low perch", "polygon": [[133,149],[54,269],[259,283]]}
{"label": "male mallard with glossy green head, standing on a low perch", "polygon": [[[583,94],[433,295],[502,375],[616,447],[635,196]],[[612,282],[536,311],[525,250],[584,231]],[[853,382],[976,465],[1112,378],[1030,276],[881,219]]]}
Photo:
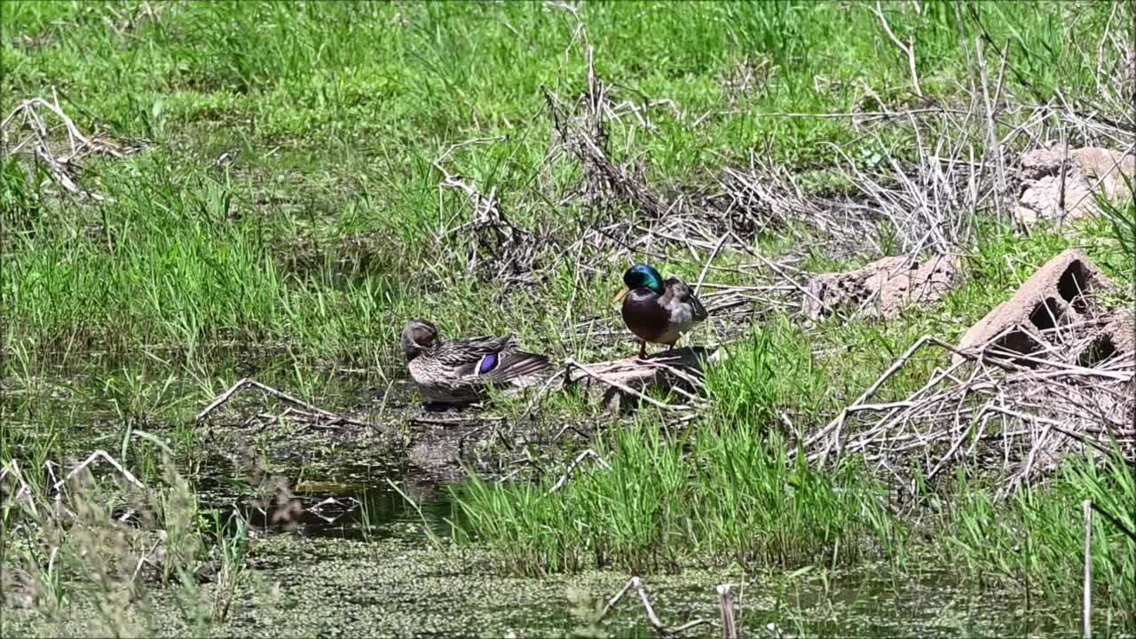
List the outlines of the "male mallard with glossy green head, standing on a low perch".
{"label": "male mallard with glossy green head, standing on a low perch", "polygon": [[624,323],[640,339],[640,358],[646,357],[646,342],[674,348],[682,333],[707,318],[707,309],[691,288],[678,277],[662,279],[646,264],[636,264],[624,273],[624,289],[612,302],[624,298]]}

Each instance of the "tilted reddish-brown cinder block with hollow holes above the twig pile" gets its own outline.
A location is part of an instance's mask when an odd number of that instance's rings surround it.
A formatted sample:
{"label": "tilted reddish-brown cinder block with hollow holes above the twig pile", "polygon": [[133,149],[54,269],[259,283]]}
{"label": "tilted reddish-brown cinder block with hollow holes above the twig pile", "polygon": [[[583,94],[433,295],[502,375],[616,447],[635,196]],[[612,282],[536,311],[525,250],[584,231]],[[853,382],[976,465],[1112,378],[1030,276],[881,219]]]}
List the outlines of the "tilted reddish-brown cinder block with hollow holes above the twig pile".
{"label": "tilted reddish-brown cinder block with hollow holes above the twig pile", "polygon": [[[988,343],[1021,355],[1037,352],[1045,341],[1041,333],[1097,317],[1094,293],[1110,285],[1091,259],[1069,249],[1045,263],[1012,298],[972,325],[959,341],[959,349]],[[954,356],[955,364],[963,359]]]}

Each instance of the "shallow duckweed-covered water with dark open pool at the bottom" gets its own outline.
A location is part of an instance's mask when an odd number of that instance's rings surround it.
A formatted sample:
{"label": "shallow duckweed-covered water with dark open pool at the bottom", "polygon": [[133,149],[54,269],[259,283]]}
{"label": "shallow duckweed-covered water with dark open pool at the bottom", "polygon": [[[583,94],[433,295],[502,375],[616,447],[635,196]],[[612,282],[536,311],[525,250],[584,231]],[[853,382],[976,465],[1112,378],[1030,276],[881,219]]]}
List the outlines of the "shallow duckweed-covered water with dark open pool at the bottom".
{"label": "shallow duckweed-covered water with dark open pool at the bottom", "polygon": [[[457,549],[448,541],[457,514],[450,489],[460,487],[398,480],[416,509],[386,483],[396,481],[395,474],[356,468],[334,480],[301,483],[296,495],[309,512],[298,526],[273,525],[253,514],[250,521],[269,540],[254,559],[259,575],[278,584],[282,605],[321,612],[310,613],[312,625],[289,625],[278,620],[278,611],[253,597],[243,619],[257,624],[277,620],[272,623],[296,632],[328,632],[336,629],[336,617],[326,614],[329,607],[352,626],[384,636],[565,637],[588,628],[587,617],[574,613],[579,606],[574,596],[605,600],[630,576],[615,571],[544,579],[499,574],[485,551]],[[424,528],[442,539],[442,549],[431,546]],[[715,587],[733,582],[750,636],[1034,636],[1076,629],[1077,611],[1027,611],[1021,595],[961,583],[945,569],[925,567],[895,579],[888,565],[817,569],[795,576],[736,569],[641,576],[669,625],[716,620]],[[229,628],[240,623],[234,620]],[[634,596],[600,629],[615,637],[653,636]],[[700,628],[690,636],[717,632]]]}

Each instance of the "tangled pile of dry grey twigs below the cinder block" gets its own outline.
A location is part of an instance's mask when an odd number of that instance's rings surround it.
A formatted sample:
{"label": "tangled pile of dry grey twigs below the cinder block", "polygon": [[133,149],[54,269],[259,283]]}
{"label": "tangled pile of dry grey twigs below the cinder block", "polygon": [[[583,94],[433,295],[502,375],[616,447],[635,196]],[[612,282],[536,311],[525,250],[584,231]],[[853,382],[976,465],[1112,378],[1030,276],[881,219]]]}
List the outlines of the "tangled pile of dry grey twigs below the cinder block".
{"label": "tangled pile of dry grey twigs below the cinder block", "polygon": [[[1083,365],[1093,341],[1078,330],[1084,327],[1043,331],[1035,335],[1043,345],[1035,355],[1004,350],[997,338],[958,350],[924,337],[804,441],[809,459],[824,464],[830,455],[859,454],[899,478],[907,470],[902,459],[916,454],[928,480],[971,459],[1000,466],[1005,490],[1029,483],[1070,453],[1106,455],[1117,445],[1127,459],[1136,459],[1136,362],[1127,352]],[[903,400],[867,404],[927,347],[963,360],[936,371]]]}

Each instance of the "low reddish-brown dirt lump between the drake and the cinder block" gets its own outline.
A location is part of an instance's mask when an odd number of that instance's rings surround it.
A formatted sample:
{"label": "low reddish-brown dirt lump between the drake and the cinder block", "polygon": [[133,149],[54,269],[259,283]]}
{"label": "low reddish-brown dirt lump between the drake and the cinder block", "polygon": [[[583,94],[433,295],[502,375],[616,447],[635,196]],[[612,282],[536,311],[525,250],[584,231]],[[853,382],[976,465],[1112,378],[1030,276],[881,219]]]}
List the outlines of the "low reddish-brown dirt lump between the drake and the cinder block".
{"label": "low reddish-brown dirt lump between the drake and the cinder block", "polygon": [[854,306],[868,316],[897,317],[912,304],[938,301],[957,283],[958,262],[936,255],[922,264],[907,256],[885,257],[847,273],[815,276],[802,302],[809,320]]}

